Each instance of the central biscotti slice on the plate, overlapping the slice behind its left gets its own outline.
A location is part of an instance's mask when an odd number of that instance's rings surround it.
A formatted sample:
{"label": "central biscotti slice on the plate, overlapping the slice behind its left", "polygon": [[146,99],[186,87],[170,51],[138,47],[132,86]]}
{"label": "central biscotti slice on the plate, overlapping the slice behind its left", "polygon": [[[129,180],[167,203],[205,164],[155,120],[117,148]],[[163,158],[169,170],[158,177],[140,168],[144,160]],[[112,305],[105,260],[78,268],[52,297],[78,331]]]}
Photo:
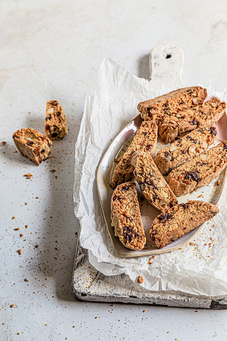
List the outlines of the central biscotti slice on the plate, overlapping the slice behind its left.
{"label": "central biscotti slice on the plate, overlapping the slice behind its left", "polygon": [[165,212],[178,203],[152,157],[144,152],[135,153],[131,159],[134,176],[145,198],[158,210]]}

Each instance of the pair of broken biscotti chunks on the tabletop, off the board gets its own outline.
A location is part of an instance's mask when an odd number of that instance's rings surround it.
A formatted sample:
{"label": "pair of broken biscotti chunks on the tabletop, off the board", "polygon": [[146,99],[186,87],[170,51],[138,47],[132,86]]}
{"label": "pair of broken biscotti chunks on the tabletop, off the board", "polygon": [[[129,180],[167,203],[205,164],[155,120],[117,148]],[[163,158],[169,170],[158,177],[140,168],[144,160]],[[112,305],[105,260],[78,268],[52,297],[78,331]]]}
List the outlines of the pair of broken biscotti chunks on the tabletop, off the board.
{"label": "pair of broken biscotti chunks on the tabletop, off the board", "polygon": [[52,140],[61,140],[68,134],[66,115],[58,101],[46,103],[45,134],[33,128],[22,128],[13,134],[19,152],[37,165],[51,153]]}

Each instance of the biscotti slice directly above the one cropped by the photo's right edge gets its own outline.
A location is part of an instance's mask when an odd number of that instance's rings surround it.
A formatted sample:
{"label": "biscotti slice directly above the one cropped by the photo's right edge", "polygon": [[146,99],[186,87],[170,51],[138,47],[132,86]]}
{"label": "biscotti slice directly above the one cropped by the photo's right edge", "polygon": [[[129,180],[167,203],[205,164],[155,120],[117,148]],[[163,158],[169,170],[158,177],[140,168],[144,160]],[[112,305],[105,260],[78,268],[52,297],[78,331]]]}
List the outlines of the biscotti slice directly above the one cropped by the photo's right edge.
{"label": "biscotti slice directly above the one cropped by the photo's right edge", "polygon": [[201,154],[215,141],[215,127],[198,128],[183,136],[171,145],[159,150],[154,162],[161,174],[168,174],[172,169]]}

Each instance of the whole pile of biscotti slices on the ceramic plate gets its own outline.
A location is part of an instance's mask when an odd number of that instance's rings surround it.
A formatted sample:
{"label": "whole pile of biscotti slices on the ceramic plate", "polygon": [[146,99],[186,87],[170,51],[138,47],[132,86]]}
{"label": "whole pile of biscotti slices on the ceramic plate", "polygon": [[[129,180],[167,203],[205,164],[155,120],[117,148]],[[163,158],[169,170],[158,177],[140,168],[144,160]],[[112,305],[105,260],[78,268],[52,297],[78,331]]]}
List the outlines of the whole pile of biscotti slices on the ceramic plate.
{"label": "whole pile of biscotti slices on the ceramic plate", "polygon": [[[144,121],[110,183],[114,189],[112,226],[127,248],[142,250],[146,242],[134,181],[150,204],[162,212],[150,229],[157,248],[164,248],[219,212],[207,202],[178,204],[176,198],[209,184],[227,165],[227,141],[207,150],[216,139],[214,124],[226,104],[218,98],[204,102],[206,98],[207,90],[198,86],[139,103]],[[158,135],[171,144],[156,154]]]}

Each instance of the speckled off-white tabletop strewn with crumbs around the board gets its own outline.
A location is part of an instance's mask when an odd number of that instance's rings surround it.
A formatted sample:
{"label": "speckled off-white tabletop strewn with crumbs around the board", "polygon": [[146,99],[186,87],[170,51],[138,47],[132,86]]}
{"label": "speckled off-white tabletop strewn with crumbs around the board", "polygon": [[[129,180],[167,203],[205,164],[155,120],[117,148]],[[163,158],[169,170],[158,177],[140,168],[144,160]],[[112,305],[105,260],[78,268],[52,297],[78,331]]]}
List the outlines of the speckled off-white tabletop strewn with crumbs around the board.
{"label": "speckled off-white tabletop strewn with crumbs around the board", "polygon": [[[0,23],[1,141],[7,142],[7,149],[0,146],[0,318],[5,323],[0,339],[90,340],[92,334],[95,340],[137,340],[138,335],[141,340],[224,340],[226,311],[78,302],[71,295],[71,276],[79,226],[72,199],[74,143],[102,59],[111,57],[148,77],[151,48],[175,42],[185,53],[184,83],[212,79],[221,91],[226,86],[226,3],[3,0]],[[11,135],[29,125],[42,130],[45,102],[51,98],[65,109],[69,135],[64,145],[54,143],[52,155],[60,155],[62,165],[52,158],[38,167],[13,153]],[[27,172],[34,175],[32,181],[23,177]],[[34,249],[37,242],[40,247]]]}

